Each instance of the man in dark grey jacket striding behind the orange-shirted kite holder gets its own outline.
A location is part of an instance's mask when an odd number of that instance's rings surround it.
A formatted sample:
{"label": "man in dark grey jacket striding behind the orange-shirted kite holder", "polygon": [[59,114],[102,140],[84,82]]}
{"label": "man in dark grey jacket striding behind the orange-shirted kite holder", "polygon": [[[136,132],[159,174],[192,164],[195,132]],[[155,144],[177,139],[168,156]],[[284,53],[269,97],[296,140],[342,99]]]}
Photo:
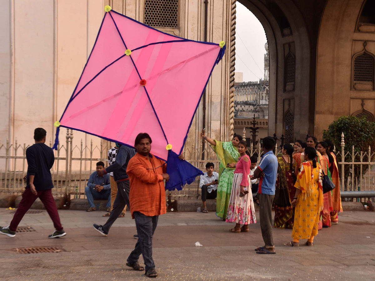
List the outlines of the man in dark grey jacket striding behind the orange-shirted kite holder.
{"label": "man in dark grey jacket striding behind the orange-shirted kite holder", "polygon": [[[126,167],[129,163],[130,158],[135,155],[135,149],[130,148],[126,145],[121,145],[118,149],[115,163],[106,169],[98,172],[98,175],[104,175],[110,172],[113,172],[113,178],[117,182],[117,195],[115,202],[113,203],[113,210],[107,222],[102,225],[94,224],[94,229],[98,231],[101,235],[107,236],[112,224],[121,214],[125,206],[129,206],[129,192],[130,192],[130,183],[129,176],[126,173]],[[134,238],[138,239],[138,235],[134,235]]]}

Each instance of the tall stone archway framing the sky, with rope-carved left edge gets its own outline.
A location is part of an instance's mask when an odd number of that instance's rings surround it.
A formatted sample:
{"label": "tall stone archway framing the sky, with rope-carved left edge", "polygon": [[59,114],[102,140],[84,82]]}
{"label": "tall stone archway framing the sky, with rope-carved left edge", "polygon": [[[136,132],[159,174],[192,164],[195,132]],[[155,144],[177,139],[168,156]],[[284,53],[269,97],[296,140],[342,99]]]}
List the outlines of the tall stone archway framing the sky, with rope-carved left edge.
{"label": "tall stone archway framing the sky, with rope-carved left edge", "polygon": [[[270,55],[268,134],[281,135],[285,132],[284,117],[290,105],[293,106],[294,120],[298,120],[294,124],[294,136],[300,138],[314,132],[315,119],[311,113],[315,110],[315,91],[311,88],[315,85],[311,85],[311,46],[305,18],[299,7],[291,0],[278,1],[277,4],[276,1],[238,1],[258,18],[267,36]],[[235,69],[236,2],[231,0],[230,82],[234,81]],[[295,58],[295,77],[289,79],[293,87],[285,87],[285,58],[291,54]],[[233,117],[231,115],[234,108],[234,100],[231,99],[233,85],[229,84],[229,124],[233,124],[231,118],[234,117],[234,114]]]}

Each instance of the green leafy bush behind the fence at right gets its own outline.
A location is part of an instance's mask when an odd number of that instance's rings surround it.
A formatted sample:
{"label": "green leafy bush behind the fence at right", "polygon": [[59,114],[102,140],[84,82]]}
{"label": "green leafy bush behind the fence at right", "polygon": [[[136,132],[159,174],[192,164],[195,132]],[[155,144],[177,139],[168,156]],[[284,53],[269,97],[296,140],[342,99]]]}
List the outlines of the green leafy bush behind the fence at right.
{"label": "green leafy bush behind the fence at right", "polygon": [[[354,161],[360,161],[360,153],[363,152],[363,161],[369,161],[368,153],[371,148],[372,157],[370,161],[374,160],[375,152],[375,123],[370,122],[366,117],[358,118],[355,116],[342,116],[337,121],[333,121],[328,130],[323,131],[323,138],[330,139],[336,146],[336,153],[341,153],[341,133],[344,133],[345,148],[344,154],[345,162],[352,161],[352,149],[354,145]],[[337,161],[342,160],[341,156]],[[365,174],[368,170],[368,165],[362,165],[362,173]],[[339,169],[341,173],[341,169]],[[345,181],[348,176],[351,176],[351,165],[345,165],[344,169]],[[354,165],[354,177],[359,178],[360,165]],[[359,179],[360,180],[360,179]]]}

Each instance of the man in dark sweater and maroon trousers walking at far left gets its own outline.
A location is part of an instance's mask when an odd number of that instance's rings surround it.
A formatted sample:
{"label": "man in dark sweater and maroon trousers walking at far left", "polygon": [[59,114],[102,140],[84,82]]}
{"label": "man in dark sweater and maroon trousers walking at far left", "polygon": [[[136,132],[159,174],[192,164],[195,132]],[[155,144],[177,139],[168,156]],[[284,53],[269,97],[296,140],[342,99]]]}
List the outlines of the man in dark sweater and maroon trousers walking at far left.
{"label": "man in dark sweater and maroon trousers walking at far left", "polygon": [[13,220],[7,227],[0,227],[0,234],[9,237],[16,236],[17,226],[22,220],[34,201],[39,197],[45,206],[49,217],[53,221],[55,227],[54,233],[48,238],[59,238],[66,235],[58,216],[55,200],[53,199],[51,189],[54,187],[51,177],[50,169],[55,161],[52,148],[45,145],[46,130],[43,128],[36,128],[34,130],[35,144],[26,149],[27,159],[27,175],[26,175],[26,189],[22,194],[22,200],[18,209],[14,214]]}

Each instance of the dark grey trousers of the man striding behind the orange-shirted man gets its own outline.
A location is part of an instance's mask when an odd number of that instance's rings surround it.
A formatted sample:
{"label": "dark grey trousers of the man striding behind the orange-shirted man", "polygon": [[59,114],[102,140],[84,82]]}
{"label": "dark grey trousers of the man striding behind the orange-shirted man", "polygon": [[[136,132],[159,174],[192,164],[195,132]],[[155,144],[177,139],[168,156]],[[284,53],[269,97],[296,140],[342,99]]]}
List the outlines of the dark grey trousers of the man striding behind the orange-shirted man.
{"label": "dark grey trousers of the man striding behind the orange-shirted man", "polygon": [[117,220],[118,216],[122,213],[125,205],[129,206],[129,192],[130,192],[130,182],[129,181],[120,181],[117,183],[117,195],[115,202],[113,203],[113,210],[107,222],[103,226],[105,232],[110,231],[112,224]]}

